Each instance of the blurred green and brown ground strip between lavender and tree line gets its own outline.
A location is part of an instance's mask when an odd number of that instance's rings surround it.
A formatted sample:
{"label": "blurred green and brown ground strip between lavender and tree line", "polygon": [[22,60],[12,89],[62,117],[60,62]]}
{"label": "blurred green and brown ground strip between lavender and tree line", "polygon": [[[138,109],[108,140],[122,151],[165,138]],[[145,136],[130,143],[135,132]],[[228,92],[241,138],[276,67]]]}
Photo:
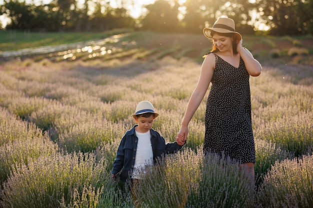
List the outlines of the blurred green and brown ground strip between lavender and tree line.
{"label": "blurred green and brown ground strip between lavender and tree line", "polygon": [[[3,56],[4,60],[11,60],[4,55],[7,51],[19,50],[21,52],[20,50],[24,49],[26,57],[36,62],[45,62],[45,59],[55,62],[77,59],[83,61],[100,59],[114,62],[129,56],[138,60],[151,58],[158,60],[171,56],[179,60],[187,56],[201,63],[203,60],[201,56],[210,50],[209,40],[201,34],[162,34],[131,29],[116,29],[101,33],[0,32],[0,58]],[[244,46],[261,62],[313,63],[310,52],[313,49],[311,36],[243,35],[243,39]],[[32,54],[33,50],[27,50],[27,48],[35,48],[39,52]],[[268,53],[268,51],[271,52]]]}

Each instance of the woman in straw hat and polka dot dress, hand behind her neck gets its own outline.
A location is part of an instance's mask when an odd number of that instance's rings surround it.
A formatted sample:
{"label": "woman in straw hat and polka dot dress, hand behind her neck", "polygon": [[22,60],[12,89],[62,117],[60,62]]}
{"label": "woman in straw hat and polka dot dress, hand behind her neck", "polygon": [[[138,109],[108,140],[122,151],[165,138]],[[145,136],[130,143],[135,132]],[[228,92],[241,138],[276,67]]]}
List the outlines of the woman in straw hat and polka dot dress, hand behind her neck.
{"label": "woman in straw hat and polka dot dress, hand behind her neck", "polygon": [[224,153],[245,167],[254,179],[255,150],[251,126],[249,76],[258,76],[261,65],[242,47],[234,21],[220,17],[203,33],[212,38],[212,50],[206,53],[198,83],[189,99],[178,144],[187,139],[188,123],[201,103],[209,83],[211,89],[205,112],[204,153]]}

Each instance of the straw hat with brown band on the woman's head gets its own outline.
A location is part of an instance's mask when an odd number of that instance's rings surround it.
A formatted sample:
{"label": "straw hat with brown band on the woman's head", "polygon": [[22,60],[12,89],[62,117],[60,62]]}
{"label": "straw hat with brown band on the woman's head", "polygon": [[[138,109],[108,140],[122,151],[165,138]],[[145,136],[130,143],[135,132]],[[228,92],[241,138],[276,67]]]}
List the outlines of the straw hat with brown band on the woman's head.
{"label": "straw hat with brown band on the woman's head", "polygon": [[211,31],[219,33],[233,32],[237,36],[237,40],[241,40],[241,35],[238,32],[235,32],[234,21],[231,18],[219,17],[213,24],[213,27],[204,27],[203,33],[205,37],[212,38]]}

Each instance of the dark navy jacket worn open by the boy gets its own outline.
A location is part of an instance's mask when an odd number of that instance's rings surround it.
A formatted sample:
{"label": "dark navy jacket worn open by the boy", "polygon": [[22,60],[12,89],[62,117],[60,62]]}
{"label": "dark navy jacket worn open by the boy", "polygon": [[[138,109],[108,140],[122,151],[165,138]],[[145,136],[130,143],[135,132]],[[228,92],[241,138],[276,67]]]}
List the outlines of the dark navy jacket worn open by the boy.
{"label": "dark navy jacket worn open by the boy", "polygon": [[[136,126],[137,125],[134,125],[122,137],[117,149],[115,161],[113,163],[113,170],[111,174],[116,175],[120,173],[119,177],[123,182],[128,179],[129,172],[132,171],[135,163],[138,142],[138,138],[135,134]],[[150,135],[153,161],[155,161],[157,157],[160,157],[163,154],[172,154],[182,148],[182,146],[178,145],[176,142],[165,144],[164,138],[152,128],[150,129]]]}

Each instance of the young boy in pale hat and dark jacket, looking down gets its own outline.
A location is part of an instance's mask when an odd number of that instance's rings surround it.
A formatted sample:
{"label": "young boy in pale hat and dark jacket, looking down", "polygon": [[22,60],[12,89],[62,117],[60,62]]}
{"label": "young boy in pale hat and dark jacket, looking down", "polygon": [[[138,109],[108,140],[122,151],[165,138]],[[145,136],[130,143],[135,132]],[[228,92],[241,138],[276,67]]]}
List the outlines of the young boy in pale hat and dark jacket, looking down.
{"label": "young boy in pale hat and dark jacket, looking down", "polygon": [[182,148],[176,142],[166,143],[164,138],[152,129],[153,120],[158,116],[153,105],[148,101],[141,101],[132,114],[135,122],[121,139],[111,172],[115,180],[119,174],[121,181],[140,179],[140,173],[146,167],[152,166],[157,157],[163,154],[175,153]]}

